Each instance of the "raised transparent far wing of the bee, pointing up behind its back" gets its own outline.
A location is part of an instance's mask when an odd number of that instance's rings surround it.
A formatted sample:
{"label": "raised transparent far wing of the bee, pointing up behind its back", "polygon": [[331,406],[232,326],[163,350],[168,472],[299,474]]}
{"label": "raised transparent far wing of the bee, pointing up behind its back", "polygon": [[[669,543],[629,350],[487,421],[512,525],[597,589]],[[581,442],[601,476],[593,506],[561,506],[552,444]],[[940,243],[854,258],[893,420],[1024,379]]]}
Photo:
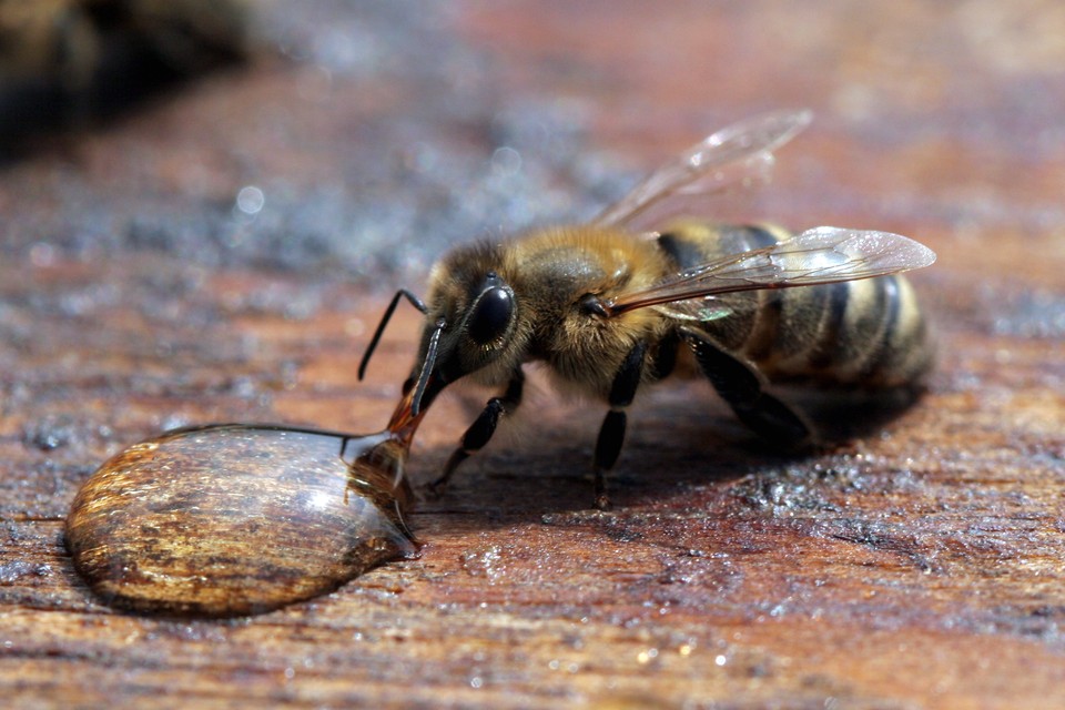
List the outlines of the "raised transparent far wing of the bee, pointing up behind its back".
{"label": "raised transparent far wing of the bee, pointing up behind its back", "polygon": [[607,207],[592,224],[640,232],[692,209],[710,195],[768,180],[772,152],[807,128],[810,111],[779,111],[721,129],[666,163],[628,195]]}

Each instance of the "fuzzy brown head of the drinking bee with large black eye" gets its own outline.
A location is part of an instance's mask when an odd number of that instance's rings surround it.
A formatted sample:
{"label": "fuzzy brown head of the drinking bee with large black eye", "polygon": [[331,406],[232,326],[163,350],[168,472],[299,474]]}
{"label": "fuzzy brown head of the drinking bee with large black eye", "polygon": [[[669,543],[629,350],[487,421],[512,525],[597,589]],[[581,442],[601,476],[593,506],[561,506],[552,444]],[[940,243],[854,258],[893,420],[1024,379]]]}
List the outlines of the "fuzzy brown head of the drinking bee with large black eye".
{"label": "fuzzy brown head of the drinking bee with large black eye", "polygon": [[508,271],[503,251],[486,244],[452,252],[433,270],[418,359],[406,384],[414,415],[466,375],[489,385],[510,379],[527,335],[503,275]]}

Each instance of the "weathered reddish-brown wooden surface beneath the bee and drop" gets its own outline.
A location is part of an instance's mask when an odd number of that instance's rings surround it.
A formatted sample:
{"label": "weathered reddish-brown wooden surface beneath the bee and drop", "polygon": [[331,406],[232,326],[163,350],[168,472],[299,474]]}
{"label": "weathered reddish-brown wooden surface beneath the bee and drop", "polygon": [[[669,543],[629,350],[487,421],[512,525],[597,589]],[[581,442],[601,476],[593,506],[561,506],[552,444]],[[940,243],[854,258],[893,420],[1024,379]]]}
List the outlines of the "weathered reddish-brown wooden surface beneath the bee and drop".
{"label": "weathered reddish-brown wooden surface beneath the bee and drop", "polygon": [[[1058,2],[308,7],[266,18],[282,57],[0,172],[6,702],[1065,707]],[[941,363],[912,409],[785,459],[667,385],[597,513],[601,412],[538,387],[420,504],[420,559],[235,621],[115,612],[75,576],[63,518],[111,454],[214,420],[379,429],[415,314],[366,383],[357,358],[439,250],[592,214],[797,105],[818,121],[763,216],[940,254],[914,276]],[[412,476],[484,397],[434,406]]]}

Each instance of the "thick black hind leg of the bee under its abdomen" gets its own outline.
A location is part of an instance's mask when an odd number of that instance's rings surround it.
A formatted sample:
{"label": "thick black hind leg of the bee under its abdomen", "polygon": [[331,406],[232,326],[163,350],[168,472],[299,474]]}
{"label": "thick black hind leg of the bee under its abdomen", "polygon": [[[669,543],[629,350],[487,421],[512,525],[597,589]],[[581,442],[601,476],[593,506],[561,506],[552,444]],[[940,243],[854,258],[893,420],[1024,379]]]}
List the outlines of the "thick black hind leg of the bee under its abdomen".
{"label": "thick black hind leg of the bee under its abdomen", "polygon": [[703,374],[740,422],[782,449],[802,449],[815,442],[805,417],[764,390],[765,381],[753,367],[703,335],[683,331]]}

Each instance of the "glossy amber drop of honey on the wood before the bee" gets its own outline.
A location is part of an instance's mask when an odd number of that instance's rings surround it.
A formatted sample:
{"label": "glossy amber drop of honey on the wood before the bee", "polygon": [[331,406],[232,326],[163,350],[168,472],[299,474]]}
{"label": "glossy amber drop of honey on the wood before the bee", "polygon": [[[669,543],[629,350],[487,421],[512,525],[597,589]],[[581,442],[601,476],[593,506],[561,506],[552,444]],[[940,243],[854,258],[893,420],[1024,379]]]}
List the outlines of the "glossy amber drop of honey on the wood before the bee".
{"label": "glossy amber drop of honey on the wood before the bee", "polygon": [[326,594],[417,551],[403,519],[413,432],[394,432],[223,424],[131,446],[74,499],[74,566],[138,611],[240,616]]}

